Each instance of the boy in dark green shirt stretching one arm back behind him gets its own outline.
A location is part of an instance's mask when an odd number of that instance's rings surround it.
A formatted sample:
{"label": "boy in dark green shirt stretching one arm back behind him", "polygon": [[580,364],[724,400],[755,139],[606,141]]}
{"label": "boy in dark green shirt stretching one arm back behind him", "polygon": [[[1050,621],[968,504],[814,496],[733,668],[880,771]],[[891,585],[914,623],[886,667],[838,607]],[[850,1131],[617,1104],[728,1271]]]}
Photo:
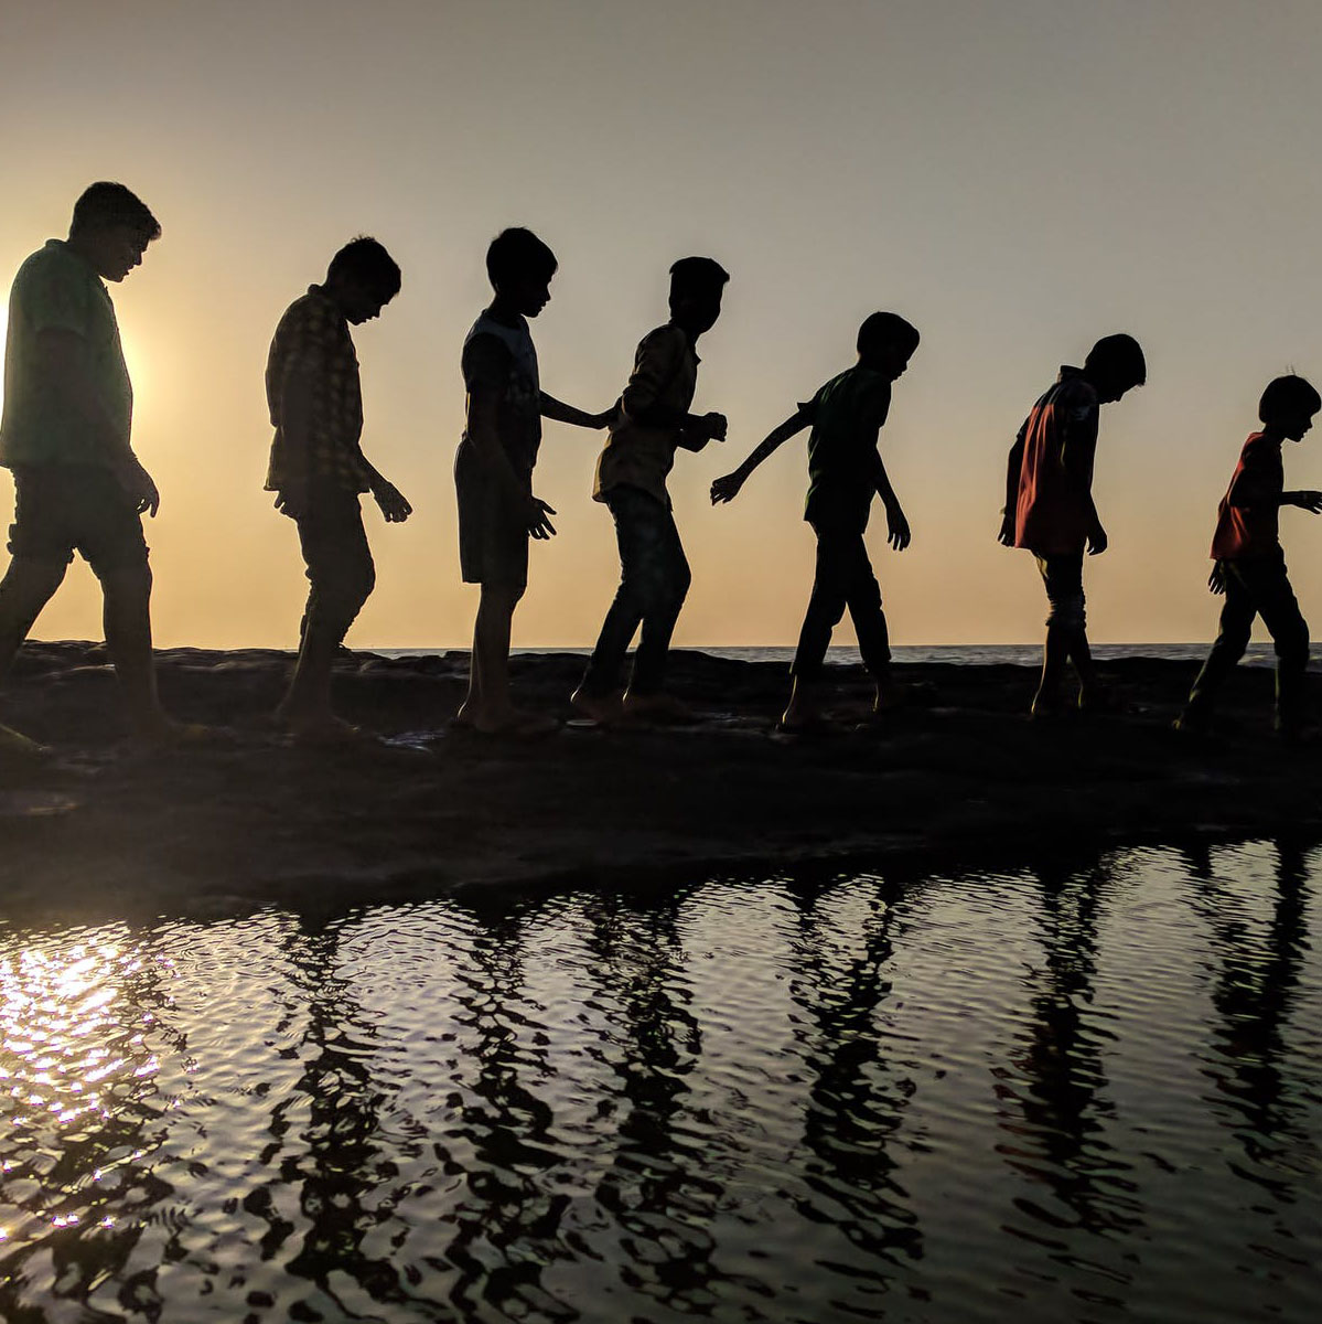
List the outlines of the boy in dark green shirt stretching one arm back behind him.
{"label": "boy in dark green shirt stretching one arm back behind him", "polygon": [[895,312],[873,312],[859,328],[859,361],[832,377],[790,414],[732,474],[712,483],[712,503],[733,500],[749,474],[782,442],[811,426],[809,494],[803,518],[816,534],[813,596],[794,654],[785,731],[822,722],[818,691],[831,630],[846,606],[859,638],[863,665],[876,682],[875,710],[885,704],[891,646],[881,589],[872,573],[863,534],[873,495],[887,514],[887,535],[899,552],[909,545],[909,522],[877,451],[877,434],[891,409],[891,384],[909,365],[918,332]]}

